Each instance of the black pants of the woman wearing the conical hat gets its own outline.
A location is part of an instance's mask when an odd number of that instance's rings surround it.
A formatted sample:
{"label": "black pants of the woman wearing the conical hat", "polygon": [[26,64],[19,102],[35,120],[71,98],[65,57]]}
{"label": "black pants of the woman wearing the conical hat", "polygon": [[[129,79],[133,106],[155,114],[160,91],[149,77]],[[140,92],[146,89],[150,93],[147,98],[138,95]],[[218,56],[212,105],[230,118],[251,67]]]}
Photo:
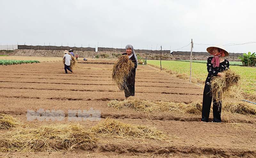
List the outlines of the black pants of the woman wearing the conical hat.
{"label": "black pants of the woman wearing the conical hat", "polygon": [[[204,96],[203,96],[203,108],[202,108],[202,118],[201,121],[208,122],[211,104],[212,104],[212,94],[210,92],[210,86],[205,84],[204,86]],[[216,102],[213,99],[213,120],[212,122],[221,122],[221,102]]]}

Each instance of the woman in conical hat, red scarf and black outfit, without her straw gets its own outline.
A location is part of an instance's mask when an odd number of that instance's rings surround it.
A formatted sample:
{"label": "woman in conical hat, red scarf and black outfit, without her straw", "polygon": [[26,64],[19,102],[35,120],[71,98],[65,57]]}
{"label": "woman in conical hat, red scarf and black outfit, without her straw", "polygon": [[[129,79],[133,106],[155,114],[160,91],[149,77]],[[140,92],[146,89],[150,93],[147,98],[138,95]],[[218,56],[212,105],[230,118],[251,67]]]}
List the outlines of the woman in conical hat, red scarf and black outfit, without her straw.
{"label": "woman in conical hat, red scarf and black outfit, without her straw", "polygon": [[224,77],[224,70],[229,69],[228,60],[224,59],[224,56],[228,56],[228,51],[222,46],[222,44],[216,44],[212,47],[208,47],[207,52],[213,55],[213,57],[209,57],[207,59],[207,71],[208,76],[205,80],[204,86],[204,95],[203,95],[203,108],[202,108],[202,118],[200,121],[208,122],[211,104],[213,102],[213,120],[212,122],[221,122],[221,101],[217,102],[214,98],[212,98],[212,94],[210,92],[210,82],[213,76],[221,76]]}

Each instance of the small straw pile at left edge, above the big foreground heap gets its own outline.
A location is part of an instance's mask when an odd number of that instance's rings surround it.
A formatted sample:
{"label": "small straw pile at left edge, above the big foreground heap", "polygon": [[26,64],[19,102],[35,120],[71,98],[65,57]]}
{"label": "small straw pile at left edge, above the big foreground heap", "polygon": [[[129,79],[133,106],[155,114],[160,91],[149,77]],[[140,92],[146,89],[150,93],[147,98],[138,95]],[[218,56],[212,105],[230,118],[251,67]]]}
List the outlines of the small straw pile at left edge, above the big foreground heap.
{"label": "small straw pile at left edge, above the big foreground heap", "polygon": [[0,113],[0,129],[10,129],[20,126],[22,123],[10,115]]}

